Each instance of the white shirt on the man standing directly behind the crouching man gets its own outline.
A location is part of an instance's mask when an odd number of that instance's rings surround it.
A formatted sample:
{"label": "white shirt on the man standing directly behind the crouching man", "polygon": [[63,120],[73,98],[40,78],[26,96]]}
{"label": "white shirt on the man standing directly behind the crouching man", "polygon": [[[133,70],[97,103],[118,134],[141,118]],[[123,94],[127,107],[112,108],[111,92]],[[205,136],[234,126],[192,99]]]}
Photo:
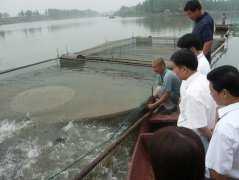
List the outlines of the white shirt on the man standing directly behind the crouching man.
{"label": "white shirt on the man standing directly behind the crouching man", "polygon": [[180,88],[180,115],[177,125],[196,130],[214,128],[216,103],[210,95],[209,82],[199,72],[182,81]]}

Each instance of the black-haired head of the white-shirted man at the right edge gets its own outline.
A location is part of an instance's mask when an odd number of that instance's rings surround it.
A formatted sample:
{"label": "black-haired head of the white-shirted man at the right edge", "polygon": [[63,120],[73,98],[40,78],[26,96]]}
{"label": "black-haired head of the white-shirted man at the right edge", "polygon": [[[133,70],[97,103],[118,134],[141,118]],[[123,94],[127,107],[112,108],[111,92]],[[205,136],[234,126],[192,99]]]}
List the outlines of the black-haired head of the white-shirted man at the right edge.
{"label": "black-haired head of the white-shirted man at the right edge", "polygon": [[221,66],[207,75],[210,92],[218,105],[229,105],[239,101],[239,72],[233,66]]}

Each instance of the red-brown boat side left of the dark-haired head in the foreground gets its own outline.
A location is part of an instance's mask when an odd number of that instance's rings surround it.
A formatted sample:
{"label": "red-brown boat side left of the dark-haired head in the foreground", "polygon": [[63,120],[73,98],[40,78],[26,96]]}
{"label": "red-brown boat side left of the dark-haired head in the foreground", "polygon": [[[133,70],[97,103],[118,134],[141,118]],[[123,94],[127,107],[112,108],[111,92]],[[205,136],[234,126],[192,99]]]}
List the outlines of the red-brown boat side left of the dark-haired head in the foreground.
{"label": "red-brown boat side left of the dark-haired head in the foreground", "polygon": [[127,180],[154,180],[147,144],[153,132],[165,126],[176,125],[178,113],[171,115],[154,114],[140,126],[139,136],[134,147]]}

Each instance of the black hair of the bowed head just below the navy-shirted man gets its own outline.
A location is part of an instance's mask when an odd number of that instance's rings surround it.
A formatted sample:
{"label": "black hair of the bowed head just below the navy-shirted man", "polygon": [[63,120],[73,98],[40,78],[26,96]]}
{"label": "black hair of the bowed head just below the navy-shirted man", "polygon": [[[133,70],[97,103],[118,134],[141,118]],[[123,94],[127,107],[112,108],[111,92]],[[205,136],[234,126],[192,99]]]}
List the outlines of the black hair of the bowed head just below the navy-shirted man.
{"label": "black hair of the bowed head just below the navy-shirted man", "polygon": [[187,49],[194,47],[197,51],[201,51],[203,49],[203,43],[201,39],[197,35],[192,33],[188,33],[180,37],[177,42],[177,46],[179,48]]}

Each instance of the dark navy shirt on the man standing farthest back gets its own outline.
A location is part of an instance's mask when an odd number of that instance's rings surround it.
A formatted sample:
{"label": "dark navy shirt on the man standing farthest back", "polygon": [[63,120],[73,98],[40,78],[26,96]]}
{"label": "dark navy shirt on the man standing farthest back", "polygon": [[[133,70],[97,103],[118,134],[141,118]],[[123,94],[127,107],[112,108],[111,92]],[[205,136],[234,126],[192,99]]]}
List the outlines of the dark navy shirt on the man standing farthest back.
{"label": "dark navy shirt on the man standing farthest back", "polygon": [[205,12],[194,24],[193,34],[196,34],[203,42],[213,40],[214,21],[213,18]]}

